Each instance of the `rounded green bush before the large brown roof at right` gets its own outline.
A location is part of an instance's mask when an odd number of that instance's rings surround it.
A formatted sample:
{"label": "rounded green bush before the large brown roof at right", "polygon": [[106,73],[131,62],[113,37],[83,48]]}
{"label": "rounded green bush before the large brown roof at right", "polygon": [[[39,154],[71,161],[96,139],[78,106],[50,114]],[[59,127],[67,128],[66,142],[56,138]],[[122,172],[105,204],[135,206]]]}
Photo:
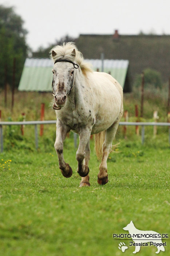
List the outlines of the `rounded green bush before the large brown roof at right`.
{"label": "rounded green bush before the large brown roof at right", "polygon": [[[161,73],[151,68],[146,68],[144,69],[143,72],[144,72],[145,87],[154,86],[156,88],[162,88]],[[142,82],[141,75],[137,75],[135,78],[134,86],[135,87],[141,86],[141,82]]]}

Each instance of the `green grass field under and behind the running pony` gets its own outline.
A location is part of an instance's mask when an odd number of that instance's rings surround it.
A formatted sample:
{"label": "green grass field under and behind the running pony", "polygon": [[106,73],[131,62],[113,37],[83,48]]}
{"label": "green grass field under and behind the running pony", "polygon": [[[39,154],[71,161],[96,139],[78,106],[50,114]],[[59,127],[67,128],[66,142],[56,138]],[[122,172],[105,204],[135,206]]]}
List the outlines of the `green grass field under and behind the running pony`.
{"label": "green grass field under and behind the running pony", "polygon": [[[159,121],[166,121],[165,98],[147,94],[144,119],[152,121],[158,110]],[[2,121],[40,119],[40,103],[46,105],[46,120],[55,119],[48,108],[51,94],[17,93],[13,113],[4,107],[0,95]],[[161,98],[161,104],[160,102]],[[147,99],[147,100],[146,100]],[[139,102],[137,91],[125,95],[124,109],[134,121],[134,105]],[[131,220],[137,229],[154,230],[170,236],[170,146],[168,128],[145,128],[145,143],[128,127],[127,139],[119,127],[115,143],[118,154],[108,158],[109,182],[97,183],[99,162],[91,141],[90,184],[79,188],[76,173],[76,149],[73,134],[64,142],[64,158],[73,169],[71,178],[60,173],[54,150],[55,125],[44,125],[44,136],[35,150],[34,128],[4,127],[4,152],[0,154],[0,256],[121,256],[118,240],[113,234],[128,234],[123,230]],[[131,241],[131,240],[130,240]],[[128,249],[123,255],[133,255],[134,246],[123,240]],[[170,241],[165,252],[169,256]],[[138,255],[155,255],[155,246],[141,246]]]}

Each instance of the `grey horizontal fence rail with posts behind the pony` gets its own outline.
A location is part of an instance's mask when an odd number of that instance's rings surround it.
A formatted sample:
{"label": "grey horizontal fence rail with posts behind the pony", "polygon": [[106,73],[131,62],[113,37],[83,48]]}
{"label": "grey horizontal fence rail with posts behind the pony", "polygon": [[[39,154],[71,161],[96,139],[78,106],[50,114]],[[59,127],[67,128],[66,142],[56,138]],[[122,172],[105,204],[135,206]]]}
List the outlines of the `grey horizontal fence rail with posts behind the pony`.
{"label": "grey horizontal fence rail with posts behind the pony", "polygon": [[[37,125],[40,124],[56,124],[56,120],[49,121],[21,121],[21,122],[0,122],[0,142],[1,152],[3,152],[3,125],[35,125],[35,147],[38,148],[38,132]],[[169,126],[169,143],[170,143],[170,123],[147,123],[147,122],[120,122],[119,125],[140,125],[142,126],[141,142],[145,140],[145,126]],[[74,145],[76,147],[76,134],[74,135]]]}

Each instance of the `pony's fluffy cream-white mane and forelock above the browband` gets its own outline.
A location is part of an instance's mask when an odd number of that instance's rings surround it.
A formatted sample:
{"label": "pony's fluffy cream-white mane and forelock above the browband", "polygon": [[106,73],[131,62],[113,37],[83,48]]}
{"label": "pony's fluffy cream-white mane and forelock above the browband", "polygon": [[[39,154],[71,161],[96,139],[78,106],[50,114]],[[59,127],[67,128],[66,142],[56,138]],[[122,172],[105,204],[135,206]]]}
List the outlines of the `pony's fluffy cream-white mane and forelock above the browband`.
{"label": "pony's fluffy cream-white mane and forelock above the browband", "polygon": [[[76,55],[75,57],[72,56],[72,51],[75,49]],[[52,51],[55,51],[56,56],[52,57]],[[84,62],[84,58],[81,52],[78,51],[77,47],[73,42],[63,43],[63,45],[56,45],[54,48],[50,51],[51,59],[54,61],[59,59],[67,59],[75,62],[78,64],[83,72],[83,74],[86,74],[86,72],[92,72],[91,64]]]}

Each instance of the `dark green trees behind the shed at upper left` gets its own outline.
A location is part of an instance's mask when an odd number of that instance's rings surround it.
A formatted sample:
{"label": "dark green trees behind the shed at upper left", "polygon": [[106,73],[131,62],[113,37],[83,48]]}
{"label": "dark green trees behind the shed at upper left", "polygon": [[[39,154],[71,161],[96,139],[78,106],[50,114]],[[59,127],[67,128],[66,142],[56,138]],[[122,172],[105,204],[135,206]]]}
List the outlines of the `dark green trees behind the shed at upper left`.
{"label": "dark green trees behind the shed at upper left", "polygon": [[74,38],[66,35],[49,47],[40,47],[36,52],[32,52],[26,42],[28,31],[23,28],[23,25],[24,21],[15,13],[14,7],[0,5],[0,89],[4,88],[5,83],[12,86],[14,58],[16,61],[15,86],[17,87],[28,53],[35,58],[47,58],[54,45],[74,41]]}

